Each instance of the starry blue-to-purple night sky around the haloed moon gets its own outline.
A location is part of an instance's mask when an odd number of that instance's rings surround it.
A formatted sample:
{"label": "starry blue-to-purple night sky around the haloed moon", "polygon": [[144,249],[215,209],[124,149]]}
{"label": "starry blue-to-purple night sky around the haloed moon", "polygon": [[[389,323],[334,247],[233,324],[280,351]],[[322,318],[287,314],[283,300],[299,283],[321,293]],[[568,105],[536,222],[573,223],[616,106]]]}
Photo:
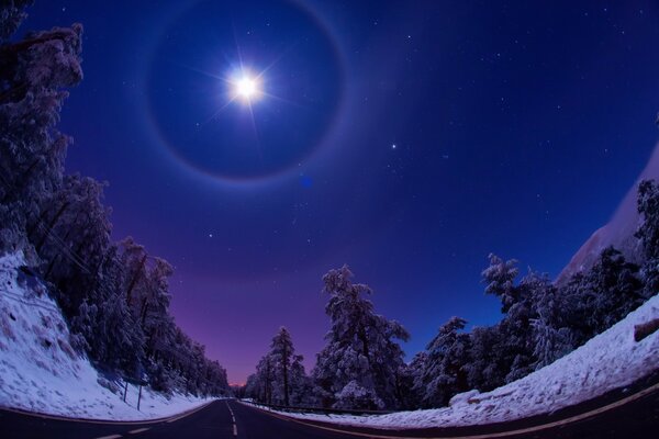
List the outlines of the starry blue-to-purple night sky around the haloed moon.
{"label": "starry blue-to-purple night sky around the haloed moon", "polygon": [[545,3],[37,0],[21,32],[85,25],[67,170],[237,383],[281,325],[313,365],[332,268],[411,357],[498,320],[489,252],[556,275],[606,223],[658,138],[659,4]]}

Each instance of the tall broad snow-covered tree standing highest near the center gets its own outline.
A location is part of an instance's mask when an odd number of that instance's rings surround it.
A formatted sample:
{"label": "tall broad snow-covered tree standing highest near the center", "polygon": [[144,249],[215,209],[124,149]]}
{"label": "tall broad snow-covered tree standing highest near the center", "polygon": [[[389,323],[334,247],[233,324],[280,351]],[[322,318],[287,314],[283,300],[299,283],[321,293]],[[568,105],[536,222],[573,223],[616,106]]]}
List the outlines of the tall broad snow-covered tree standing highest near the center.
{"label": "tall broad snow-covered tree standing highest near the center", "polygon": [[[334,395],[325,403],[345,407],[348,402],[358,402],[353,408],[373,408],[382,404],[396,407],[403,351],[394,340],[407,340],[409,334],[398,322],[376,314],[372,302],[365,297],[371,294],[371,289],[354,284],[351,278],[346,266],[323,277],[323,292],[330,296],[325,312],[331,329],[312,374],[326,394]],[[360,395],[358,398],[355,392]]]}

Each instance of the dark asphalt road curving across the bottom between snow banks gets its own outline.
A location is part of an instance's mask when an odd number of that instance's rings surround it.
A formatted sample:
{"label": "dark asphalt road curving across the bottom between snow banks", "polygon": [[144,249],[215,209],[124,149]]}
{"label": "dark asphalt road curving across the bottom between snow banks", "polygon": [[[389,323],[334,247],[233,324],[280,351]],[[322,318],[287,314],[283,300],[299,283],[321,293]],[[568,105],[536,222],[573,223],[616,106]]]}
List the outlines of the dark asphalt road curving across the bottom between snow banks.
{"label": "dark asphalt road curving across the bottom between snow banks", "polygon": [[[628,395],[626,396],[628,397]],[[619,399],[619,398],[618,398]],[[557,424],[561,419],[582,416],[611,404],[611,401],[589,402],[565,413],[523,419],[493,426],[425,430],[373,430],[340,427],[288,419],[235,399],[215,401],[205,407],[178,418],[155,423],[96,423],[42,418],[0,410],[0,438],[63,439],[314,439],[314,438],[651,438],[659,431],[659,387],[627,404],[615,406],[584,419]],[[604,404],[602,404],[604,403]],[[578,413],[580,410],[580,413]],[[538,428],[538,426],[540,426]],[[335,430],[345,431],[335,431]],[[517,431],[517,432],[515,432]]]}

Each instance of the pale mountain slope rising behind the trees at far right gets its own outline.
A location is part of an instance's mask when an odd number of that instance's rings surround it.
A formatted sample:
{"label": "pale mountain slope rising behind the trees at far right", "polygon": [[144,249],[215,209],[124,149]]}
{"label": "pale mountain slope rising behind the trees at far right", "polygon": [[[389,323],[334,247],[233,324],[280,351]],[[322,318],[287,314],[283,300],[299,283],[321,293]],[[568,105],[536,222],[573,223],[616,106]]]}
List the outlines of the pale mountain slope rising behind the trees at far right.
{"label": "pale mountain slope rising behind the trees at far right", "polygon": [[659,145],[655,147],[650,160],[623,199],[611,221],[600,227],[581,246],[556,279],[557,283],[562,283],[570,279],[572,274],[591,268],[602,250],[608,246],[614,246],[632,261],[637,259],[638,239],[634,236],[639,222],[636,206],[637,190],[638,183],[648,179],[659,180]]}

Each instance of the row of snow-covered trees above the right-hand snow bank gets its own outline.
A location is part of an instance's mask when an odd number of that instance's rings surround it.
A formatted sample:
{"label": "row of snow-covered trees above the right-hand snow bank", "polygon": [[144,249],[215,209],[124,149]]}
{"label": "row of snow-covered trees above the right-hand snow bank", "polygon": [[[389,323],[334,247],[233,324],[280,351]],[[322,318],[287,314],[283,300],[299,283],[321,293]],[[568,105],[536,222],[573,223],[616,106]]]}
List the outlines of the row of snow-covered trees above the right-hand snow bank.
{"label": "row of snow-covered trees above the right-hand snow bank", "polygon": [[[556,284],[547,274],[521,277],[517,261],[490,255],[485,293],[501,302],[501,320],[466,330],[451,317],[425,350],[403,360],[407,331],[376,314],[368,285],[347,267],[323,278],[331,329],[316,364],[304,373],[281,328],[259,361],[245,396],[267,404],[357,409],[440,407],[461,392],[491,391],[518,380],[606,330],[659,291],[659,185],[640,182],[634,262],[605,248],[587,271]],[[286,348],[284,348],[286,347]],[[291,362],[295,365],[294,372]],[[292,397],[291,395],[294,395]]]}

